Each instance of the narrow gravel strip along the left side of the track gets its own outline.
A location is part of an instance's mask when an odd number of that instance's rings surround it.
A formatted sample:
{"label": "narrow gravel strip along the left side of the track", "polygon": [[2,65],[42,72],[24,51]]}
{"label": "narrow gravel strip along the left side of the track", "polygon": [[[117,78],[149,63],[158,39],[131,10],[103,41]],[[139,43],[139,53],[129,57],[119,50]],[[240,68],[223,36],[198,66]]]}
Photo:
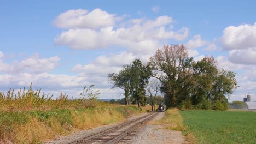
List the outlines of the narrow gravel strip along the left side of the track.
{"label": "narrow gravel strip along the left side of the track", "polygon": [[[147,113],[142,113],[141,115],[137,115],[137,116],[133,116],[133,117],[127,118],[127,120],[132,120],[132,119],[135,119],[135,118],[144,116],[144,115],[147,115]],[[45,142],[43,142],[43,143],[44,143],[44,144],[63,144],[63,143],[69,143],[69,142],[72,142],[72,141],[81,139],[81,138],[83,138],[83,137],[85,137],[85,136],[89,136],[89,135],[98,133],[98,132],[100,132],[100,131],[103,131],[103,130],[105,130],[105,129],[114,127],[115,125],[118,125],[118,124],[120,124],[120,123],[122,123],[122,122],[117,122],[117,123],[109,124],[109,125],[103,125],[103,126],[101,126],[101,127],[97,127],[97,128],[90,129],[90,130],[79,130],[79,131],[75,131],[74,133],[72,133],[72,134],[70,134],[70,135],[56,137],[56,138],[53,139],[53,140],[48,140],[48,141],[45,141]]]}

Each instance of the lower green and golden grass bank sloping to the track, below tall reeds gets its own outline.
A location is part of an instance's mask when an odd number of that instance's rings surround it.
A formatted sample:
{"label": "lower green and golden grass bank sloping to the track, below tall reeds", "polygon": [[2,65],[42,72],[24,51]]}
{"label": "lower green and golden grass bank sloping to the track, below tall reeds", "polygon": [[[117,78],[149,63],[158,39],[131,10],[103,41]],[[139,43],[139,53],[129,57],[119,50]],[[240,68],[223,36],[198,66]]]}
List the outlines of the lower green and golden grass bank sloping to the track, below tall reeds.
{"label": "lower green and golden grass bank sloping to the track, below tall reeds", "polygon": [[140,112],[136,107],[115,105],[95,109],[16,113],[15,116],[9,116],[9,119],[21,115],[27,117],[26,121],[0,121],[0,126],[4,128],[0,130],[0,142],[38,143],[73,131],[124,121],[127,116]]}

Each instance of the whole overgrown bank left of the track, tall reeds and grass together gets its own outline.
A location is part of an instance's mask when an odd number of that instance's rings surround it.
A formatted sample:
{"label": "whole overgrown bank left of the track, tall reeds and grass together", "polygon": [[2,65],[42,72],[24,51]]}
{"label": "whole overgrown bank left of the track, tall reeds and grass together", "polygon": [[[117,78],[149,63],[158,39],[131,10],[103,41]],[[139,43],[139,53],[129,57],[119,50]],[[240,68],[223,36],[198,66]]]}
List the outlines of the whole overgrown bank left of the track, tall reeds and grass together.
{"label": "whole overgrown bank left of the track, tall reeds and grass together", "polygon": [[80,99],[68,99],[62,93],[53,99],[33,91],[32,86],[19,90],[18,95],[14,89],[0,93],[0,143],[38,143],[145,112],[135,106],[98,101],[98,91],[90,88],[84,88]]}

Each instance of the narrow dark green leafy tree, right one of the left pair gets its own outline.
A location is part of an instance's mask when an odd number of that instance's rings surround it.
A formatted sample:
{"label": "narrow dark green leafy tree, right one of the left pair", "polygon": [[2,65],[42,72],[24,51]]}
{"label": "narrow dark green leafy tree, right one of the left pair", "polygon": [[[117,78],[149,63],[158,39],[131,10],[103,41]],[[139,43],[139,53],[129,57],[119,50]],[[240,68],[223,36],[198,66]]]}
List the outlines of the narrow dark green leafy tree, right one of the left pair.
{"label": "narrow dark green leafy tree, right one of the left pair", "polygon": [[140,59],[135,59],[135,61],[132,62],[130,71],[130,93],[132,97],[136,99],[138,107],[146,105],[147,97],[145,95],[145,86],[148,83],[150,73],[150,68],[142,65]]}

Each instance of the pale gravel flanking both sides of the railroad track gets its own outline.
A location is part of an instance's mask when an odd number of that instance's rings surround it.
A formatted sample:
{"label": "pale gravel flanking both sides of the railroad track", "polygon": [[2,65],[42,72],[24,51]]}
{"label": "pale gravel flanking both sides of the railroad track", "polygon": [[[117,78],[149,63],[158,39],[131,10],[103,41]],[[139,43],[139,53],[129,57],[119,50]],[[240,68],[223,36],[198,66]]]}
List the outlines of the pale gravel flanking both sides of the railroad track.
{"label": "pale gravel flanking both sides of the railroad track", "polygon": [[[127,120],[135,119],[137,117],[141,117],[146,115],[143,113],[139,116],[128,118]],[[160,112],[156,117],[152,119],[152,121],[159,120],[163,118],[165,112]],[[98,133],[102,130],[108,129],[110,127],[114,127],[115,125],[120,124],[121,122],[104,125],[102,127],[94,128],[91,130],[80,130],[68,136],[57,137],[54,140],[46,141],[45,144],[54,143],[54,144],[62,144],[72,142],[82,137],[89,136],[91,134]],[[146,123],[139,127],[136,130],[136,134],[132,136],[129,141],[119,142],[119,143],[139,143],[139,144],[150,144],[150,143],[184,143],[184,136],[181,135],[181,131],[167,130],[164,129],[163,125],[150,125],[150,123]]]}

